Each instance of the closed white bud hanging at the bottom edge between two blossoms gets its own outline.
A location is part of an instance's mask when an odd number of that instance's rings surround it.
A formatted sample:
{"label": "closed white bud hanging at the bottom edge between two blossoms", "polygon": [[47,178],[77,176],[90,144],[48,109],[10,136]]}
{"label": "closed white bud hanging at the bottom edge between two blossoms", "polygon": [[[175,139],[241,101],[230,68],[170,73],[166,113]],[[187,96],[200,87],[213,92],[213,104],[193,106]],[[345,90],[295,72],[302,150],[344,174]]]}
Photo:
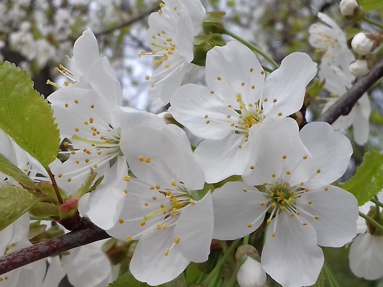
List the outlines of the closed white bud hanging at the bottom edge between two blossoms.
{"label": "closed white bud hanging at the bottom edge between two blossoms", "polygon": [[266,272],[261,263],[247,256],[237,274],[237,282],[240,287],[263,287],[266,283]]}

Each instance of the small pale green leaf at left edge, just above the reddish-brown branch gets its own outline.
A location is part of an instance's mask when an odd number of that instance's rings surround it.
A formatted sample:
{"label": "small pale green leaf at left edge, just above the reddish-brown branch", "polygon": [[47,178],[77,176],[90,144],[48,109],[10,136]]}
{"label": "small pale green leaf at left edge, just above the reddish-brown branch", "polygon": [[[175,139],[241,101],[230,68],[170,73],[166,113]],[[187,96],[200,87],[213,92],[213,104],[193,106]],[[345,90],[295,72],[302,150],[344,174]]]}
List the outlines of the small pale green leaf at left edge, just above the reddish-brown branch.
{"label": "small pale green leaf at left edge, just above the reddish-brown branch", "polygon": [[0,231],[10,225],[38,202],[28,190],[17,186],[0,187]]}

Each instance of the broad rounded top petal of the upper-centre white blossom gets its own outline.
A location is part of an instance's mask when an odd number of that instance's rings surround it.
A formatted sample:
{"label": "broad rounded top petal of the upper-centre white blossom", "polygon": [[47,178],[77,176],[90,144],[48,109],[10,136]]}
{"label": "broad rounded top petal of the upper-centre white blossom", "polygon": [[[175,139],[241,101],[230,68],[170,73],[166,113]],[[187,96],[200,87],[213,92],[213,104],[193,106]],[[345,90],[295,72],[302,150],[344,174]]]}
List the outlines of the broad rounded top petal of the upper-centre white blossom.
{"label": "broad rounded top petal of the upper-centre white blossom", "polygon": [[233,108],[239,109],[238,94],[246,105],[257,102],[262,94],[264,78],[265,72],[255,54],[238,42],[216,46],[206,55],[209,89]]}

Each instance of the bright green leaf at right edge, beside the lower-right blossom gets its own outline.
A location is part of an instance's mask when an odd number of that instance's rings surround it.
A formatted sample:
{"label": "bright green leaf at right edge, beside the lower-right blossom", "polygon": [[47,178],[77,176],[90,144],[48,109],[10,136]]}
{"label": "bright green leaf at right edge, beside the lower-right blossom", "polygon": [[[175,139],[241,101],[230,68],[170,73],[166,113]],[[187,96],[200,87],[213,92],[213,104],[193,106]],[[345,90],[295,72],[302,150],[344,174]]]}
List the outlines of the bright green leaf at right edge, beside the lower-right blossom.
{"label": "bright green leaf at right edge, beside the lower-right blossom", "polygon": [[383,154],[376,150],[365,153],[355,176],[342,188],[354,194],[359,206],[378,194],[383,188]]}

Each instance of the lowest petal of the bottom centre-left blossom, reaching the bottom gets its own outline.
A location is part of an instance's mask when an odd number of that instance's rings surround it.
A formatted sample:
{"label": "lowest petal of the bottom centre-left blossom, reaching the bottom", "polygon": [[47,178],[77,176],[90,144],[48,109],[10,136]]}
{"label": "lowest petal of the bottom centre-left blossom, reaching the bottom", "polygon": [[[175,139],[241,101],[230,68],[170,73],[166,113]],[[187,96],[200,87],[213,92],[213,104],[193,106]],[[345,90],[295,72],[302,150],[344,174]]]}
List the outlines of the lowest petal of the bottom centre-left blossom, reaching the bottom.
{"label": "lowest petal of the bottom centre-left blossom, reaching the bottom", "polygon": [[[159,285],[177,277],[190,263],[174,245],[175,226],[158,230],[153,226],[137,243],[130,262],[130,271],[137,280]],[[172,249],[170,249],[174,245]],[[165,250],[170,249],[167,256]]]}

